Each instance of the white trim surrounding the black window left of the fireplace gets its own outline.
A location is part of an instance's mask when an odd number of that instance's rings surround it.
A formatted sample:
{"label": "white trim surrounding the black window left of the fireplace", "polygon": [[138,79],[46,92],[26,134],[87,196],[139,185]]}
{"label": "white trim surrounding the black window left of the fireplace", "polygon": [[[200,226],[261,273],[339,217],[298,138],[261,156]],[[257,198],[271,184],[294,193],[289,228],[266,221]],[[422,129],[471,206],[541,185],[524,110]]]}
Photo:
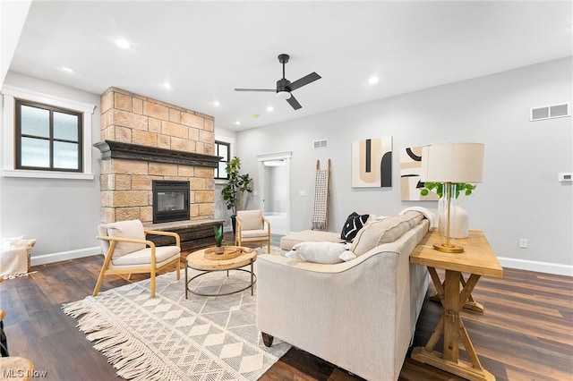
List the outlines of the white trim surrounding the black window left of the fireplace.
{"label": "white trim surrounding the black window left of the fireplace", "polygon": [[[2,114],[4,121],[3,148],[2,155],[2,176],[3,177],[29,177],[39,179],[72,179],[72,180],[94,180],[92,172],[92,115],[95,112],[96,105],[78,102],[75,100],[55,97],[37,91],[21,89],[10,85],[4,85],[2,88],[4,102],[2,104]],[[61,107],[65,110],[78,112],[82,114],[82,138],[81,153],[83,168],[81,172],[69,172],[63,170],[48,171],[46,168],[41,170],[17,169],[15,160],[15,102],[16,99],[22,99],[29,102],[36,102],[47,106]]]}

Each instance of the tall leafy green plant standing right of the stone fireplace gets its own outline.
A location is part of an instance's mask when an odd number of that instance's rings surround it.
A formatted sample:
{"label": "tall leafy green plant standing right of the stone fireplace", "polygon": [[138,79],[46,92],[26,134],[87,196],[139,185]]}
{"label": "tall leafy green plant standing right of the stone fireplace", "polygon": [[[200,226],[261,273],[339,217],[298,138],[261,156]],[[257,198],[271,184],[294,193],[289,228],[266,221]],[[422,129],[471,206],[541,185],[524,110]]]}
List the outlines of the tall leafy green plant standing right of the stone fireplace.
{"label": "tall leafy green plant standing right of the stone fireplace", "polygon": [[235,233],[236,211],[243,206],[244,192],[252,192],[252,178],[249,174],[239,174],[241,159],[233,157],[227,162],[225,172],[229,176],[227,185],[221,190],[223,200],[227,204],[227,210],[231,212],[231,224]]}

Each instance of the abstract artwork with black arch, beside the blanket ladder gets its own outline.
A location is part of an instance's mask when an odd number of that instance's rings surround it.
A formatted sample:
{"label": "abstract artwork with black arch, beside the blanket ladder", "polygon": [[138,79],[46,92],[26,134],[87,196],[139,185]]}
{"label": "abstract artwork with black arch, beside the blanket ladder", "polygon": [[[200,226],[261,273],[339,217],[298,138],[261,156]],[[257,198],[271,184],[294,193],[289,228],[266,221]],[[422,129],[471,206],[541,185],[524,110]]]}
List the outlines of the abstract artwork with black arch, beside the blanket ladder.
{"label": "abstract artwork with black arch, beside the blanket ladder", "polygon": [[352,142],[352,186],[392,186],[392,137]]}

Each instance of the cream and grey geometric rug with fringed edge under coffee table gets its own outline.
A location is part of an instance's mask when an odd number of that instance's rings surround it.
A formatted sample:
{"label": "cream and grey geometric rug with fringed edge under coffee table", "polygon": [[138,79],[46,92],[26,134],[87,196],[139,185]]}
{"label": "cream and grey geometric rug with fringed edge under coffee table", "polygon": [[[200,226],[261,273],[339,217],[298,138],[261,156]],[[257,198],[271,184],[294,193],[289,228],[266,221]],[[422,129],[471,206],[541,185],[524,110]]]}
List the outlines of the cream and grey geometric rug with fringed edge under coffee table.
{"label": "cream and grey geometric rug with fringed edge under coffee table", "polygon": [[[189,269],[189,277],[198,274]],[[117,375],[137,381],[256,380],[291,347],[275,339],[268,348],[255,326],[255,294],[251,289],[219,297],[189,292],[185,299],[184,269],[150,281],[127,284],[64,304],[64,313],[78,319],[79,329],[94,343]],[[219,271],[193,280],[202,293],[243,288],[250,275]]]}

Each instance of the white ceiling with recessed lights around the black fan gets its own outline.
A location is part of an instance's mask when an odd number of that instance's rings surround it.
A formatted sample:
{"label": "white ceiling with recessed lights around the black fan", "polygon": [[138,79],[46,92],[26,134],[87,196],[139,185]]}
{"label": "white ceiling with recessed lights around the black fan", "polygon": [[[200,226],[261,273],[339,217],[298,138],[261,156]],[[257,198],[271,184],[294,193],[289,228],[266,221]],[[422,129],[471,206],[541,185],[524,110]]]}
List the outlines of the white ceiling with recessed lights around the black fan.
{"label": "white ceiling with recessed lights around the black fan", "polygon": [[[34,1],[10,70],[94,94],[126,89],[239,131],[572,55],[572,13],[570,0]],[[322,77],[293,92],[302,109],[234,91],[274,89],[281,53],[288,80]]]}

